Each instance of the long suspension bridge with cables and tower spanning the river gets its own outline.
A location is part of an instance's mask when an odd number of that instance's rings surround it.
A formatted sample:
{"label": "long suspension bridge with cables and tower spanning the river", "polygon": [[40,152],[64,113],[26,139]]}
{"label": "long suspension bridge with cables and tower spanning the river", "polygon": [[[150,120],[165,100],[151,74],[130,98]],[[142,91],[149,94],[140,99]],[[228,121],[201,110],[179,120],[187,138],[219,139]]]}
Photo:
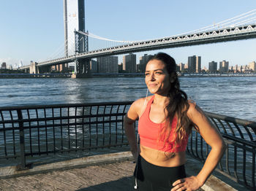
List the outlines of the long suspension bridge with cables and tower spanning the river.
{"label": "long suspension bridge with cables and tower spanning the river", "polygon": [[[89,47],[86,48],[86,51],[81,52],[78,49],[81,46],[81,39],[84,38],[89,42]],[[256,9],[194,31],[159,39],[119,41],[97,36],[88,31],[75,31],[75,38],[69,37],[68,39],[69,47],[75,47],[75,54],[69,55],[67,52],[63,52],[64,46],[67,46],[67,42],[64,42],[66,45],[60,47],[46,61],[34,63],[34,66],[23,66],[20,69],[31,73],[31,70],[35,71],[36,68],[45,71],[50,66],[75,63],[76,73],[84,77],[89,74],[91,58],[253,38],[256,38]],[[84,47],[83,50],[85,50]]]}

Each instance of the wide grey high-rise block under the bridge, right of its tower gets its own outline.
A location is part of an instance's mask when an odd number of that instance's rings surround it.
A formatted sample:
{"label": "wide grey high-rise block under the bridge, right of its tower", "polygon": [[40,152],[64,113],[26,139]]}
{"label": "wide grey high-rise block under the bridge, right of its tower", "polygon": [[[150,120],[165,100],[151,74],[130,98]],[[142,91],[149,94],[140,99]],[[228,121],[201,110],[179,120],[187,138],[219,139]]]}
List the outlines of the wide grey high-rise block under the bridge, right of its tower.
{"label": "wide grey high-rise block under the bridge, right of its tower", "polygon": [[97,58],[99,73],[118,73],[118,56],[105,56]]}

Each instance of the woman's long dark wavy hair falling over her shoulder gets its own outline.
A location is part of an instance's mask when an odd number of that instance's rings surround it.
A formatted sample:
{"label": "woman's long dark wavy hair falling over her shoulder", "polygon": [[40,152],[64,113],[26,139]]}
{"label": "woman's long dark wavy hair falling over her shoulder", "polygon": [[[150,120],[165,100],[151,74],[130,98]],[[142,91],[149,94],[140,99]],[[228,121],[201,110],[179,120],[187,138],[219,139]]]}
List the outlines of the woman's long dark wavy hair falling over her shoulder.
{"label": "woman's long dark wavy hair falling over her shoulder", "polygon": [[[175,139],[175,146],[176,144],[181,144],[181,141],[184,139],[185,136],[188,136],[192,130],[192,122],[187,117],[187,111],[189,109],[189,104],[187,100],[187,94],[180,89],[180,84],[178,81],[178,74],[176,72],[176,61],[166,53],[159,52],[157,55],[154,55],[149,61],[158,60],[165,63],[165,67],[167,69],[170,78],[173,78],[170,82],[170,90],[167,93],[167,96],[170,98],[169,104],[165,107],[167,110],[166,122],[165,127],[160,130],[159,139],[163,137],[164,143],[170,137],[170,131],[173,125],[173,119],[176,117],[177,124],[176,124],[176,139]],[[174,141],[174,140],[173,140]]]}

